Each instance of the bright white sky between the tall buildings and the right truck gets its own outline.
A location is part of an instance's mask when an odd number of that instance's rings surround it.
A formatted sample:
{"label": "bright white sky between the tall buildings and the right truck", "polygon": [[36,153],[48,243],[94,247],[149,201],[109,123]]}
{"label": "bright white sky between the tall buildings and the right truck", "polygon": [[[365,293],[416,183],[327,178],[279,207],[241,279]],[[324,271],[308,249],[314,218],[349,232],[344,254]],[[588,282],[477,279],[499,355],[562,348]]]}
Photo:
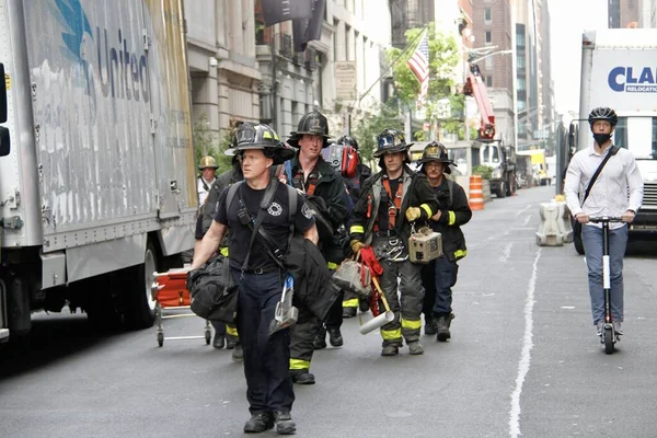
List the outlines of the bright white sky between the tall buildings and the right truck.
{"label": "bright white sky between the tall buildings and the right truck", "polygon": [[557,113],[579,110],[581,33],[584,30],[607,27],[607,0],[548,0]]}

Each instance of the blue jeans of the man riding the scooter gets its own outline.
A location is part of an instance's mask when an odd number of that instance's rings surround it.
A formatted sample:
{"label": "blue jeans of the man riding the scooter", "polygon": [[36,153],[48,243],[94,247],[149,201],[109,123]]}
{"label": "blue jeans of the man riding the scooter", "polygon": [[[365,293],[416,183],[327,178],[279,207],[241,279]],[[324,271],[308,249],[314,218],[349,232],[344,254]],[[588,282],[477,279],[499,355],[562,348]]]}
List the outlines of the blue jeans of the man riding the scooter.
{"label": "blue jeans of the man riding the scooter", "polygon": [[[593,324],[604,321],[604,289],[602,285],[602,228],[583,226],[581,242],[588,266],[589,295]],[[623,321],[623,256],[627,246],[627,226],[609,230],[610,306],[614,321]]]}

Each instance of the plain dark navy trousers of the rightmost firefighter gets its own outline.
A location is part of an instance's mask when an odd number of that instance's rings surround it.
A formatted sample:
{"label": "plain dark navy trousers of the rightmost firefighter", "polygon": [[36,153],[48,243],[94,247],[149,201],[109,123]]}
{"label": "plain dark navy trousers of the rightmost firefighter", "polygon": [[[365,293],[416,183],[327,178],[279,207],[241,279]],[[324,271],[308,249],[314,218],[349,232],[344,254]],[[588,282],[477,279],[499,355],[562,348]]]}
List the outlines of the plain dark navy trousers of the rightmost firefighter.
{"label": "plain dark navy trousers of the rightmost firefighter", "polygon": [[447,316],[452,312],[452,287],[457,284],[459,265],[447,257],[438,257],[422,267],[425,298],[422,312],[430,316]]}

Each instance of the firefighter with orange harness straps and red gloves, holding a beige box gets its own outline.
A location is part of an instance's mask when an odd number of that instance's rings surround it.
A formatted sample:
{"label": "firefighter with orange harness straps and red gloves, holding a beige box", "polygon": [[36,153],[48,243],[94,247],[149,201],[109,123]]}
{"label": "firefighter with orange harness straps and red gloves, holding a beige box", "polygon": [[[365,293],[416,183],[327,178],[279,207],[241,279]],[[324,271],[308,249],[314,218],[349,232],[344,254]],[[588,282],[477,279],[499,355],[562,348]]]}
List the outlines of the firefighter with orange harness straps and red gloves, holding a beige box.
{"label": "firefighter with orange harness straps and red gloves, holding a beige box", "polygon": [[380,285],[394,320],[381,327],[381,356],[396,356],[402,338],[412,355],[424,353],[419,330],[425,291],[419,265],[408,260],[407,242],[411,224],[433,217],[439,205],[426,176],[407,165],[411,146],[396,129],[384,129],[379,135],[374,158],[379,158],[381,171],[367,180],[349,223],[351,251],[357,254],[371,245],[382,261]]}

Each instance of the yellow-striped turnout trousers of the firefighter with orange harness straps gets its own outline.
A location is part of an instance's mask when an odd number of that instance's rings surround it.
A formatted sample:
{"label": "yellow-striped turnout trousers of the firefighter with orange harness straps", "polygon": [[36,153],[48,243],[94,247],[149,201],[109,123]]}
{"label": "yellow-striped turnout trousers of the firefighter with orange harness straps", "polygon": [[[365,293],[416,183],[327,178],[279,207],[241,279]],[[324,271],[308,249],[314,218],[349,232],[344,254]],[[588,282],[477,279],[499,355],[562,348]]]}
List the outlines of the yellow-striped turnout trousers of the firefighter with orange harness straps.
{"label": "yellow-striped turnout trousers of the firefighter with orange harness straps", "polygon": [[[422,326],[422,304],[425,289],[422,286],[420,266],[404,262],[381,261],[383,274],[380,278],[381,289],[394,312],[394,320],[381,327],[383,346],[393,344],[401,346],[402,336],[406,343],[419,339]],[[397,278],[399,292],[397,293]],[[381,309],[383,306],[379,304]]]}

